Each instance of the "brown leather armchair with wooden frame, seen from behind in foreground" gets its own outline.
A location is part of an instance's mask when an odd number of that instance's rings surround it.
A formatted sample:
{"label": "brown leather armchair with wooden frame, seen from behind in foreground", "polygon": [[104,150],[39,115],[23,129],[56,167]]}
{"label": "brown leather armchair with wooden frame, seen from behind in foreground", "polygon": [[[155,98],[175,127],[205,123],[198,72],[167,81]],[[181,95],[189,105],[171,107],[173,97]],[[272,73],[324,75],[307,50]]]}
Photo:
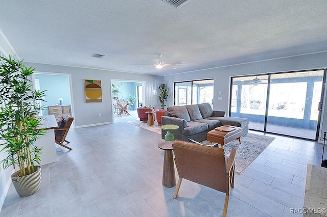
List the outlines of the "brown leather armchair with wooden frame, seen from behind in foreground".
{"label": "brown leather armchair with wooden frame, seen from behind in foreground", "polygon": [[231,149],[228,157],[222,148],[176,140],[173,150],[179,175],[173,198],[177,197],[182,179],[188,179],[225,193],[223,216],[226,216],[229,191],[234,187],[236,148]]}

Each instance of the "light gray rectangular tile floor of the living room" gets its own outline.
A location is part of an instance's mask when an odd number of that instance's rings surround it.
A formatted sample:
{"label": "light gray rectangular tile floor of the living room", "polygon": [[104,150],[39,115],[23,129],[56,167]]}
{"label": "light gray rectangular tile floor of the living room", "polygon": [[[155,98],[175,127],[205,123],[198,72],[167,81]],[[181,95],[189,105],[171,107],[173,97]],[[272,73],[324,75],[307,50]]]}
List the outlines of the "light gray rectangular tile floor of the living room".
{"label": "light gray rectangular tile floor of the living room", "polygon": [[[162,139],[125,123],[135,113],[69,130],[73,150],[57,147],[58,161],[42,167],[36,194],[21,198],[11,185],[0,216],[221,216],[224,194],[183,180],[174,200],[175,187],[161,185]],[[302,216],[290,208],[302,207],[306,165],[320,165],[322,145],[271,136],[276,139],[236,174],[227,216]]]}

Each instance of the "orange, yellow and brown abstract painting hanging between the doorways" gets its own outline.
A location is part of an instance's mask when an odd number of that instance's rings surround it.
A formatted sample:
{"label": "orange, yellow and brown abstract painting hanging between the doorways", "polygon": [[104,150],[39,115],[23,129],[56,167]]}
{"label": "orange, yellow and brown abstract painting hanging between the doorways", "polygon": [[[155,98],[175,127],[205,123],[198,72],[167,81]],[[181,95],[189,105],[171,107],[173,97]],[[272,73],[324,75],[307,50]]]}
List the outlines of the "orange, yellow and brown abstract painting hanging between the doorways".
{"label": "orange, yellow and brown abstract painting hanging between the doorways", "polygon": [[85,102],[102,102],[101,80],[84,80]]}

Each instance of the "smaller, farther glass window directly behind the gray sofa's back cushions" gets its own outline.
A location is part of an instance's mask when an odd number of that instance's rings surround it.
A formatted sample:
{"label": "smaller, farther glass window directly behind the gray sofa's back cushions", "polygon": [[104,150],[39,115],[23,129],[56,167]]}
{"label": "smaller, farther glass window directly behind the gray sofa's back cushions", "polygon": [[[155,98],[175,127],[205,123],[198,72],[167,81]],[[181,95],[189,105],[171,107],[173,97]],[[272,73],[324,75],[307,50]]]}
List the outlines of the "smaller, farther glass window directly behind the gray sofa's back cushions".
{"label": "smaller, farther glass window directly behind the gray sofa's back cushions", "polygon": [[213,107],[214,79],[176,82],[175,105],[209,103]]}

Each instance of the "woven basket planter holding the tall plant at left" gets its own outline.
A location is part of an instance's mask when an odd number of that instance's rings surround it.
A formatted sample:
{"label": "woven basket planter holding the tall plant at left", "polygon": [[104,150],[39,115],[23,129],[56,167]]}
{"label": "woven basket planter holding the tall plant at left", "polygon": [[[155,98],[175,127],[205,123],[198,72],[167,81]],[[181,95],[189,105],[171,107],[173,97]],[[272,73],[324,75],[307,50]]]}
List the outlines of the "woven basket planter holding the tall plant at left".
{"label": "woven basket planter holding the tall plant at left", "polygon": [[26,176],[19,176],[19,171],[11,175],[11,180],[20,197],[27,197],[35,194],[41,185],[41,167],[34,167],[35,172]]}

